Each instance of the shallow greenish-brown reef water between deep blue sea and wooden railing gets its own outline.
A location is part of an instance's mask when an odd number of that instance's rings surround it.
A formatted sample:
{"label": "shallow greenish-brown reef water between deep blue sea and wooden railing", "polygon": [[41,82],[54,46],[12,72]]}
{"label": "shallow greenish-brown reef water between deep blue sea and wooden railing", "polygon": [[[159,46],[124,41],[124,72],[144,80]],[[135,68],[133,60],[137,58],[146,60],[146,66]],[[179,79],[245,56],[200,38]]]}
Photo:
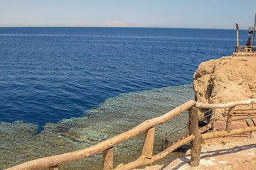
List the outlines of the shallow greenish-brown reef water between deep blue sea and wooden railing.
{"label": "shallow greenish-brown reef water between deep blue sea and wooden railing", "polygon": [[[193,97],[191,85],[120,94],[117,97],[108,98],[97,108],[85,111],[82,117],[63,119],[58,123],[46,123],[41,132],[37,132],[38,125],[33,123],[2,122],[0,125],[1,167],[7,168],[28,160],[90,147],[125,132],[144,120],[163,115],[176,106],[193,100]],[[156,127],[155,154],[160,152],[161,139],[165,132],[187,119],[188,113],[184,112],[164,125]],[[174,138],[181,135],[183,134],[177,134]],[[142,152],[143,141],[144,133],[115,146],[114,166],[137,159]],[[169,157],[178,157],[180,154],[176,152]],[[100,169],[101,166],[102,154],[100,153],[60,167]]]}

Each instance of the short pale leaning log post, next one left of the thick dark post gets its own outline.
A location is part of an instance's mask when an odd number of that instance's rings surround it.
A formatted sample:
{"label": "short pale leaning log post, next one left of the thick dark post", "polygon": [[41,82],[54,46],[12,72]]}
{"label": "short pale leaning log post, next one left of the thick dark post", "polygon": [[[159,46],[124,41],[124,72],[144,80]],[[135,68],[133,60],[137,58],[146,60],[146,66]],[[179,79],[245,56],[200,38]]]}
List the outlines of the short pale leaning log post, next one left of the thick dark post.
{"label": "short pale leaning log post, next one left of the thick dark post", "polygon": [[153,155],[154,132],[155,132],[155,128],[150,128],[145,132],[145,140],[144,140],[144,146],[142,149],[142,156],[145,156],[148,159],[151,159]]}

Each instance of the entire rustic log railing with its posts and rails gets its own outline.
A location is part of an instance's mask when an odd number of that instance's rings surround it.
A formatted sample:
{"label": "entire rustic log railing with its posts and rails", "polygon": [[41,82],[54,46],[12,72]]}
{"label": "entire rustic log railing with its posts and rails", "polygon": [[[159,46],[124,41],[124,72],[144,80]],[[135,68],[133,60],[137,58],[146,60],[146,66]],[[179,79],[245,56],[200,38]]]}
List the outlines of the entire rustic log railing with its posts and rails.
{"label": "entire rustic log railing with its posts and rails", "polygon": [[[196,103],[195,101],[188,101],[174,110],[169,111],[168,113],[161,115],[156,118],[152,118],[150,120],[146,120],[140,125],[124,132],[120,135],[112,137],[108,140],[100,142],[97,145],[92,147],[88,147],[86,149],[81,149],[76,152],[69,152],[65,154],[58,154],[52,157],[44,157],[41,159],[35,159],[29,162],[24,162],[23,164],[18,164],[9,168],[9,170],[14,169],[43,169],[49,168],[50,170],[58,170],[58,165],[66,164],[68,162],[75,162],[80,159],[85,159],[86,157],[91,157],[97,153],[103,152],[103,170],[112,170],[113,167],[113,152],[114,146],[127,141],[142,132],[146,132],[144,147],[142,149],[142,155],[135,160],[134,162],[130,162],[129,164],[119,164],[114,170],[117,169],[134,169],[147,164],[152,164],[157,162],[158,160],[166,157],[167,154],[173,152],[178,147],[186,145],[188,142],[191,142],[191,166],[198,166],[200,160],[200,152],[201,152],[201,141],[206,139],[211,139],[215,137],[227,137],[230,135],[238,135],[244,134],[246,132],[256,131],[255,127],[247,127],[240,128],[237,130],[232,130],[232,120],[233,120],[233,111],[235,106],[240,105],[250,105],[256,103],[256,99],[252,99],[249,101],[237,101],[225,104],[209,104],[209,103]],[[208,134],[201,135],[198,130],[198,113],[196,108],[229,108],[228,111],[228,120],[225,131],[220,132],[211,132]],[[154,148],[154,126],[161,125],[165,123],[167,120],[174,118],[174,116],[182,113],[183,111],[188,110],[189,112],[189,123],[188,130],[189,136],[184,138],[183,140],[177,142],[170,147],[167,147],[164,151],[159,154],[153,156],[153,148]]]}

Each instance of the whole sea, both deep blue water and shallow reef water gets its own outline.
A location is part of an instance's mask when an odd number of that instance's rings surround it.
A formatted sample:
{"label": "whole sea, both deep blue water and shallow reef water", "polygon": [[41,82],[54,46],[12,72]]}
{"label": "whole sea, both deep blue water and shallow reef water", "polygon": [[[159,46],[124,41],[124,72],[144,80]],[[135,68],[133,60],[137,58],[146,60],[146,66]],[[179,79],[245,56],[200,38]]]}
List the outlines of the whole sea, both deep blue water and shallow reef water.
{"label": "whole sea, both deep blue water and shallow reef water", "polygon": [[[0,28],[0,167],[90,147],[193,100],[198,65],[232,55],[236,40],[235,28]],[[159,127],[156,145],[186,118]],[[138,141],[117,147],[116,165]]]}

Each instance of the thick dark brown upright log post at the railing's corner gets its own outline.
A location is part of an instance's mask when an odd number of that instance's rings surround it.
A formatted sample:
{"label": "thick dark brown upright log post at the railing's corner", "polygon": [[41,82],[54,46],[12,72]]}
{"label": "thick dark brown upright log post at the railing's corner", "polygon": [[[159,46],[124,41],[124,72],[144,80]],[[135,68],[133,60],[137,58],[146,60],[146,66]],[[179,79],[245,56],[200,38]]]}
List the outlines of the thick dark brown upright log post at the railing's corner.
{"label": "thick dark brown upright log post at the railing's corner", "polygon": [[198,113],[194,106],[189,108],[189,135],[195,136],[191,141],[191,166],[199,166],[202,136],[198,129]]}

